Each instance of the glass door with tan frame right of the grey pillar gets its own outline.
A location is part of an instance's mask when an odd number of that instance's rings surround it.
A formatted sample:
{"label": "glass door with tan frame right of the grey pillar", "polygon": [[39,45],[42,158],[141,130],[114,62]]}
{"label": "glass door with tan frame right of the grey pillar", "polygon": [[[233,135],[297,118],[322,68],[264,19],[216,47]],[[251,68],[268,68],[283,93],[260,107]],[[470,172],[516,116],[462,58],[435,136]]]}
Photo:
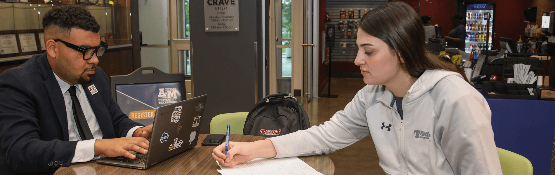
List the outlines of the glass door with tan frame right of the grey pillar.
{"label": "glass door with tan frame right of the grey pillar", "polygon": [[318,34],[314,32],[318,4],[314,0],[270,1],[270,14],[274,14],[270,36],[275,37],[275,42],[270,42],[270,94],[285,92],[311,101],[317,81],[317,64],[313,64],[318,55]]}

